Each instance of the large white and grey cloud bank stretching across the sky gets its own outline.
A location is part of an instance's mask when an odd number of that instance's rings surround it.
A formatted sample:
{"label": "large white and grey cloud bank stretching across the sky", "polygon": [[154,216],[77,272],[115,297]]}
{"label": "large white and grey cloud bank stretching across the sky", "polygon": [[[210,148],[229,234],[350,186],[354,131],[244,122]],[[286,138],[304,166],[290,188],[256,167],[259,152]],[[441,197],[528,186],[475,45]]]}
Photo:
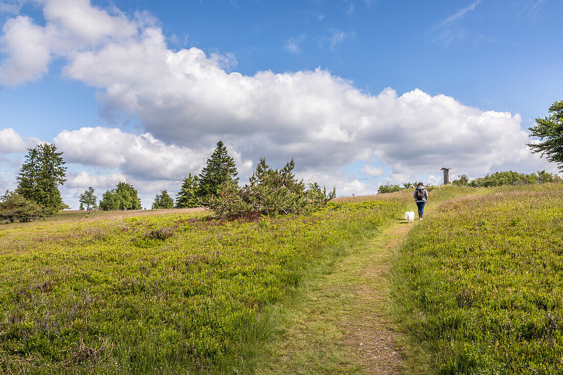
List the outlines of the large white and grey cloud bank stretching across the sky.
{"label": "large white and grey cloud bank stretching across the sky", "polygon": [[[33,81],[62,58],[66,77],[99,88],[103,113],[133,114],[146,131],[62,131],[54,141],[73,162],[177,181],[197,172],[222,139],[245,168],[261,155],[274,165],[294,157],[303,176],[336,181],[341,193],[368,193],[383,178],[414,179],[441,167],[476,176],[547,165],[529,153],[519,115],[421,90],[371,95],[320,68],[228,73],[233,56],[174,51],[148,14],[126,15],[88,0],[37,3],[43,26],[25,15],[3,26],[0,82]],[[359,177],[342,172],[356,160],[366,160]],[[379,164],[390,166],[391,175]]]}

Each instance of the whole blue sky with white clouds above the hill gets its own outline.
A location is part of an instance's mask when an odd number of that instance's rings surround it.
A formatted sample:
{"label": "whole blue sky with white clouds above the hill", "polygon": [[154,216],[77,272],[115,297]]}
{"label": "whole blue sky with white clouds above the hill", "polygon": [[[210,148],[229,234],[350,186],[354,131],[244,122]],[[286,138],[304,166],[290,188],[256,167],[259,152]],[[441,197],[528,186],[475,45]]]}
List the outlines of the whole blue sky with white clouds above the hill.
{"label": "whole blue sky with white clouds above the hill", "polygon": [[337,195],[504,170],[563,100],[561,0],[0,0],[0,189],[63,152],[78,208],[119,181],[150,208],[218,140],[241,182],[296,160]]}

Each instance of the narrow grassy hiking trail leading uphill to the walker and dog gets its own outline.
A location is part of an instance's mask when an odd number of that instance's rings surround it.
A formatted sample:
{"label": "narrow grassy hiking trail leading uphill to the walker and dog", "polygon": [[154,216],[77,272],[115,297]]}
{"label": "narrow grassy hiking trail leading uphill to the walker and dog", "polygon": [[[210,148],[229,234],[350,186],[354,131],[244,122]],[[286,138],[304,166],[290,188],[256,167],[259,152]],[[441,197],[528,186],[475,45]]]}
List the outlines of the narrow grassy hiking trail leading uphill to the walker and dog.
{"label": "narrow grassy hiking trail leading uphill to the walker and dog", "polygon": [[[259,374],[398,374],[403,356],[387,315],[394,251],[415,225],[395,219],[285,306]],[[272,361],[273,359],[273,361]]]}

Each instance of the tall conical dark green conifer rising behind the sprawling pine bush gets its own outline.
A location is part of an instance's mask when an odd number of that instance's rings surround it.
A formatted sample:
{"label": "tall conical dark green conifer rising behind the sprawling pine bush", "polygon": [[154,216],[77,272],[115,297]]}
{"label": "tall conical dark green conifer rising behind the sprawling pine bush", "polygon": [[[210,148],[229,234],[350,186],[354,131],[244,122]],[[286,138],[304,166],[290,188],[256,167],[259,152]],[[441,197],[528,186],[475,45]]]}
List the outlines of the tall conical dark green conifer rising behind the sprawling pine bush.
{"label": "tall conical dark green conifer rising behind the sprawling pine bush", "polygon": [[235,161],[227,153],[227,148],[222,141],[217,142],[217,148],[207,159],[207,165],[202,169],[198,183],[198,198],[208,199],[217,195],[221,185],[227,181],[238,182]]}

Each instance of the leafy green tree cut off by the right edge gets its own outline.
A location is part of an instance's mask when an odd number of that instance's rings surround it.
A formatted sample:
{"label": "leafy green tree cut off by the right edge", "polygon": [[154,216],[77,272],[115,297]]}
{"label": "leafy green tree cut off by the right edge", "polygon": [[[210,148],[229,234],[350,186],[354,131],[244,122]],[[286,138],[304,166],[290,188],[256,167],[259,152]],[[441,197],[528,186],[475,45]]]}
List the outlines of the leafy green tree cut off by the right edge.
{"label": "leafy green tree cut off by the right edge", "polygon": [[557,163],[559,171],[563,171],[563,100],[556,101],[549,107],[546,118],[535,119],[535,126],[528,128],[530,137],[538,137],[540,142],[529,143],[532,153],[547,155],[546,159]]}

